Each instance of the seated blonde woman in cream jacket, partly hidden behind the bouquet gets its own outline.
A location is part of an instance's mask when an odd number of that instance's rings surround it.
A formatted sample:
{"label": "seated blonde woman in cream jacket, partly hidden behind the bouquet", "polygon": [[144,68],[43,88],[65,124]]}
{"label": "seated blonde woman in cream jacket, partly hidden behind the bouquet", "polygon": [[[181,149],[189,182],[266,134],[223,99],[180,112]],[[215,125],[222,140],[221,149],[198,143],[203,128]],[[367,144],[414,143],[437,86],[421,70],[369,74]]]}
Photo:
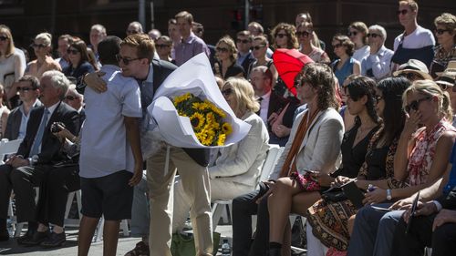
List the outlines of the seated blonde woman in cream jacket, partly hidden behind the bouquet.
{"label": "seated blonde woman in cream jacket, partly hidden behind the bouquet", "polygon": [[[215,159],[209,166],[211,200],[232,200],[252,191],[261,175],[269,148],[268,132],[263,120],[255,114],[259,103],[254,98],[254,88],[244,78],[231,77],[222,87],[223,97],[237,118],[250,124],[249,133],[238,143],[216,148]],[[173,231],[181,230],[190,209],[190,200],[180,181],[174,184]]]}

